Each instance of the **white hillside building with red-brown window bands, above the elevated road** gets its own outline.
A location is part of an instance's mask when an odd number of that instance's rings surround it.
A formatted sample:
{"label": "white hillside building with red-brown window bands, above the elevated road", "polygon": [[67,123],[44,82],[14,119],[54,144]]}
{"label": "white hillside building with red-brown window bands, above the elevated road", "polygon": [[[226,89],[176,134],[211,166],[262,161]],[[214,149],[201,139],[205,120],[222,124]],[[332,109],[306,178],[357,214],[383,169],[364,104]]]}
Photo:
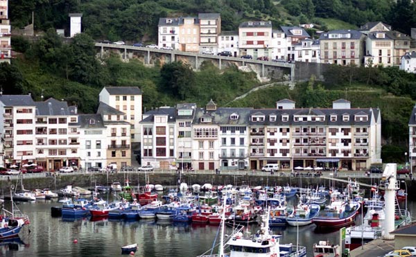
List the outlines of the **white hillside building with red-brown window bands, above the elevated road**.
{"label": "white hillside building with red-brown window bands, above the elevated road", "polygon": [[245,21],[239,26],[239,55],[272,58],[272,22]]}

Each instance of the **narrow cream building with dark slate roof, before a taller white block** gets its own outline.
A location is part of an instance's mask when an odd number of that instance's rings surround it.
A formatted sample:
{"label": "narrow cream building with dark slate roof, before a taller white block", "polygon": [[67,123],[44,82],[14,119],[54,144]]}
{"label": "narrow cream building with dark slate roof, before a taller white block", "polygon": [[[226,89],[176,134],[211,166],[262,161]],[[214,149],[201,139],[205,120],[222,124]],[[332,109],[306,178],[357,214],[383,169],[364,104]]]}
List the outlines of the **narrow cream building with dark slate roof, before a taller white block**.
{"label": "narrow cream building with dark slate roof, before a taller white block", "polygon": [[[117,168],[130,166],[132,141],[130,127],[132,127],[132,124],[123,119],[124,112],[103,102],[98,105],[97,114],[103,118],[103,125],[106,128],[102,142],[107,142],[107,145],[105,145],[107,166],[110,164],[115,164]],[[90,143],[92,144],[94,141]],[[98,148],[97,145],[96,148]],[[89,150],[89,148],[86,150]]]}

